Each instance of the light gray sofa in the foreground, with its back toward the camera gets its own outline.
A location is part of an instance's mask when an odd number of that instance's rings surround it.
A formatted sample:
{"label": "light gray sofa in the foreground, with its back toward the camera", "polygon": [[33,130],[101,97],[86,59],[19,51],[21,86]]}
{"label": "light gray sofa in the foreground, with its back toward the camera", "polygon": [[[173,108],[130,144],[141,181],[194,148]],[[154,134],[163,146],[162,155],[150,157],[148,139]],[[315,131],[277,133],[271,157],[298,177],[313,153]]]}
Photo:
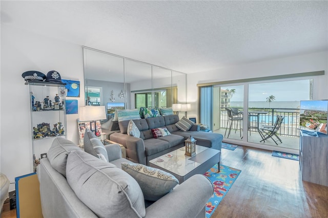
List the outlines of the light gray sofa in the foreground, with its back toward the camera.
{"label": "light gray sofa in the foreground, with its back toward the camera", "polygon": [[120,146],[110,144],[103,149],[109,162],[88,154],[67,139],[54,139],[48,158],[41,159],[37,166],[44,217],[205,216],[205,205],[214,189],[203,175],[195,175],[158,200],[147,202],[145,189],[121,169],[131,162],[121,158]]}

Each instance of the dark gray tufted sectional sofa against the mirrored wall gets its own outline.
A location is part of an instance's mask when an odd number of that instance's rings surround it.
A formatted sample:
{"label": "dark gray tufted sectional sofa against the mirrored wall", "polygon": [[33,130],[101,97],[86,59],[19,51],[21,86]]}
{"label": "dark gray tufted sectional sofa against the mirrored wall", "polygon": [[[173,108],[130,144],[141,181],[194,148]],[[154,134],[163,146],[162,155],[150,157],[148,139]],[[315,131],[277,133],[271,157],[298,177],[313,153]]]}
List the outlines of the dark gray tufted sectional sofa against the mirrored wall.
{"label": "dark gray tufted sectional sofa against the mirrored wall", "polygon": [[[175,124],[179,122],[178,115],[167,115],[146,119],[133,120],[140,131],[140,137],[129,136],[129,120],[118,122],[120,132],[111,133],[110,140],[122,144],[127,149],[127,159],[135,163],[149,165],[149,161],[185,145],[185,140],[192,136],[197,145],[221,150],[223,136],[217,133],[207,133],[199,130],[194,124],[188,131],[180,130]],[[166,127],[171,135],[154,138],[152,130]]]}

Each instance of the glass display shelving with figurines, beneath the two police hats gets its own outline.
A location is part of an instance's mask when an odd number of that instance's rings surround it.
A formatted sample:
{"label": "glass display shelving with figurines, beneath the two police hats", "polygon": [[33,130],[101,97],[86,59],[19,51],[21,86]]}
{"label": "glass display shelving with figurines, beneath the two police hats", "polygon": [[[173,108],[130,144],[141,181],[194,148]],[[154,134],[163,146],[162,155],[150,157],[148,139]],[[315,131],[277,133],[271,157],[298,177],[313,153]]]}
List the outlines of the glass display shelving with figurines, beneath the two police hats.
{"label": "glass display shelving with figurines, beneath the two police hats", "polygon": [[[53,138],[66,137],[65,84],[27,81],[30,88],[33,171]],[[48,97],[49,98],[48,98]]]}

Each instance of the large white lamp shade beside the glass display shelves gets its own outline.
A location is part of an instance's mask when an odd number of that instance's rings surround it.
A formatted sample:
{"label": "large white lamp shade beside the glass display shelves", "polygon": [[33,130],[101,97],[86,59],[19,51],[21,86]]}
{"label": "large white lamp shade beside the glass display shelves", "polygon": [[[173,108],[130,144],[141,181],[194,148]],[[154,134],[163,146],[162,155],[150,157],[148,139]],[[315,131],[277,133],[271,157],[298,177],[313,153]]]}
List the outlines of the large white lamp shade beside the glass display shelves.
{"label": "large white lamp shade beside the glass display shelves", "polygon": [[80,107],[79,121],[105,120],[105,106],[83,106]]}

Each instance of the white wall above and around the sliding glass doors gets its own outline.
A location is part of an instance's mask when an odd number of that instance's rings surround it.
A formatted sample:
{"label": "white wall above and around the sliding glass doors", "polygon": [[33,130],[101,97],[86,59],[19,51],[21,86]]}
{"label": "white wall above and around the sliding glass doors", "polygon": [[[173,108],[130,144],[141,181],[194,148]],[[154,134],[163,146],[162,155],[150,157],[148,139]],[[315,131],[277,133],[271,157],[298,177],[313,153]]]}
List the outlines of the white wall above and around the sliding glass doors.
{"label": "white wall above and around the sliding glass doors", "polygon": [[[187,102],[198,115],[198,83],[229,81],[265,76],[278,76],[314,71],[325,71],[325,75],[314,77],[314,99],[328,99],[328,55],[327,51],[293,57],[254,62],[240,66],[187,74]],[[198,120],[198,117],[197,117]]]}

